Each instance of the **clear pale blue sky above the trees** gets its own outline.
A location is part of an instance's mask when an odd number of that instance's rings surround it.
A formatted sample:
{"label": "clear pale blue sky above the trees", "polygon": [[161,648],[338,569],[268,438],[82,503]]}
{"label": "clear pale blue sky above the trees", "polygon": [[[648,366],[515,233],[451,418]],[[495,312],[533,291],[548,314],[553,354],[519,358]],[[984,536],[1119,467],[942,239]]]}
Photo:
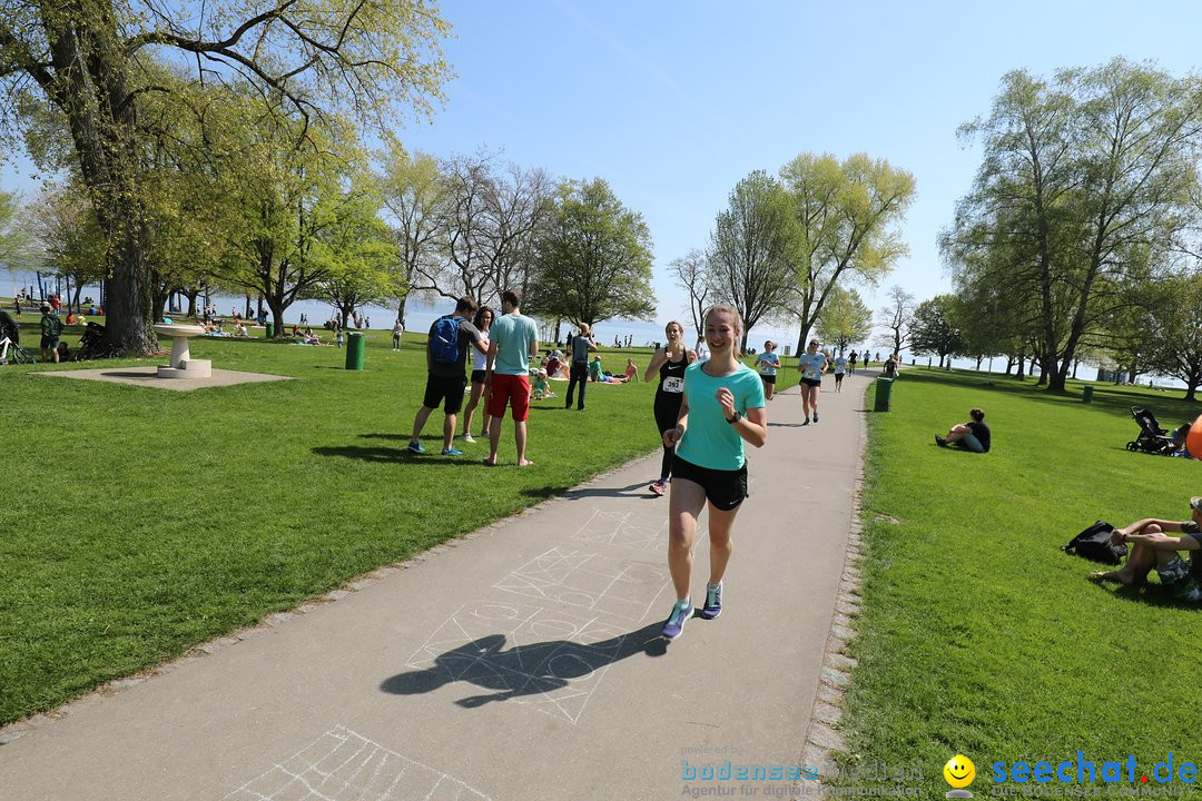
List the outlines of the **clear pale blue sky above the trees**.
{"label": "clear pale blue sky above the trees", "polygon": [[[805,151],[864,151],[917,180],[910,257],[877,291],[859,287],[874,309],[894,283],[918,299],[948,291],[935,238],[978,161],[956,128],[989,109],[1001,76],[1117,55],[1184,74],[1202,30],[1202,4],[1096,0],[447,0],[442,14],[459,77],[430,122],[401,132],[406,144],[440,156],[484,145],[608,180],[650,226],[661,323],[685,313],[667,263],[706,246],[739,179]],[[31,193],[11,168],[0,183]]]}

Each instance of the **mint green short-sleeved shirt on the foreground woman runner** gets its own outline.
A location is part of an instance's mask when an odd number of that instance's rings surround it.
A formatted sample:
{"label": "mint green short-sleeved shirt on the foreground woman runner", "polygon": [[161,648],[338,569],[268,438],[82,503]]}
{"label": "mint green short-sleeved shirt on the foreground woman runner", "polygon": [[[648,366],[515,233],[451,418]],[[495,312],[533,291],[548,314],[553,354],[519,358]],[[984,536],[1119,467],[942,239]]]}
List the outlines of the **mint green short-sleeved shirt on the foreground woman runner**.
{"label": "mint green short-sleeved shirt on the foreground woman runner", "polygon": [[709,361],[694,361],[684,371],[684,396],[689,404],[689,423],[677,455],[698,467],[709,470],[739,470],[746,461],[743,437],[726,422],[718,390],[726,387],[734,395],[734,410],[746,414],[749,408],[763,408],[763,382],[745,364],[728,376],[715,378],[701,369]]}

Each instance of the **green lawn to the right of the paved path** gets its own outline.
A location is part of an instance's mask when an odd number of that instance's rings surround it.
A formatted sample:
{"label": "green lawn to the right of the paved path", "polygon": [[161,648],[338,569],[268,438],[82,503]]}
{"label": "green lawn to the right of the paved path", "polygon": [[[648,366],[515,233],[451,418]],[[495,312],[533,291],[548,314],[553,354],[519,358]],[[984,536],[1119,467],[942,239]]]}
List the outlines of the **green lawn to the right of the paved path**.
{"label": "green lawn to the right of the paved path", "polygon": [[[864,614],[844,716],[852,764],[921,765],[935,797],[957,753],[976,763],[978,796],[999,760],[1135,754],[1144,772],[1171,751],[1197,761],[1200,609],[1170,600],[1155,576],[1143,593],[1093,584],[1102,566],[1059,546],[1097,519],[1186,520],[1202,464],[1126,452],[1138,432],[1129,407],[1164,428],[1202,407],[1094,385],[1087,406],[1076,382],[1052,396],[1030,379],[988,387],[911,369],[892,412],[869,416]],[[992,453],[938,448],[934,435],[972,406]]]}

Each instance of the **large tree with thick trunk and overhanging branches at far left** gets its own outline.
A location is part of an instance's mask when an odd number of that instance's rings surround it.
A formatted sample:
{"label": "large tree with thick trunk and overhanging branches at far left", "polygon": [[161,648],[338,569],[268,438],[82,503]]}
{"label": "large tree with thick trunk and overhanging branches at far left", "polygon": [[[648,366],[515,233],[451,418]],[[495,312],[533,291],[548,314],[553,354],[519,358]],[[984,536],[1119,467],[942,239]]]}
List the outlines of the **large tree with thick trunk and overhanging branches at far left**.
{"label": "large tree with thick trunk and overhanging branches at far left", "polygon": [[[109,234],[106,340],[149,353],[151,277],[141,112],[157,65],[195,65],[191,83],[237,78],[258,89],[264,119],[344,116],[387,131],[403,107],[428,114],[450,71],[438,49],[448,25],[424,0],[0,0],[5,133],[55,116],[101,229]],[[31,149],[35,150],[35,149]]]}

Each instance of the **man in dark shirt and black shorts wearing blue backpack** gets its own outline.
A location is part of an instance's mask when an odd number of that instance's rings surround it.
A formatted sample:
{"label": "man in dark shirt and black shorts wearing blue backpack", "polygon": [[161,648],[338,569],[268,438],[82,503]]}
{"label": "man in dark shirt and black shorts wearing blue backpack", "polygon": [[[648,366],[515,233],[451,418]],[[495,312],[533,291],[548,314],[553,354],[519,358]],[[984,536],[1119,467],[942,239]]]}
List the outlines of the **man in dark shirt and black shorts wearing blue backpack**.
{"label": "man in dark shirt and black shorts wearing blue backpack", "polygon": [[459,298],[454,313],[439,317],[430,325],[430,336],[426,343],[426,396],[422,408],[413,418],[413,436],[409,440],[409,449],[415,454],[426,453],[421,440],[422,428],[430,412],[444,404],[446,418],[442,422],[442,455],[462,456],[456,448],[454,432],[457,416],[463,408],[464,389],[468,387],[468,351],[475,347],[481,353],[488,353],[488,340],[471,324],[476,313],[476,301],[471,298]]}

